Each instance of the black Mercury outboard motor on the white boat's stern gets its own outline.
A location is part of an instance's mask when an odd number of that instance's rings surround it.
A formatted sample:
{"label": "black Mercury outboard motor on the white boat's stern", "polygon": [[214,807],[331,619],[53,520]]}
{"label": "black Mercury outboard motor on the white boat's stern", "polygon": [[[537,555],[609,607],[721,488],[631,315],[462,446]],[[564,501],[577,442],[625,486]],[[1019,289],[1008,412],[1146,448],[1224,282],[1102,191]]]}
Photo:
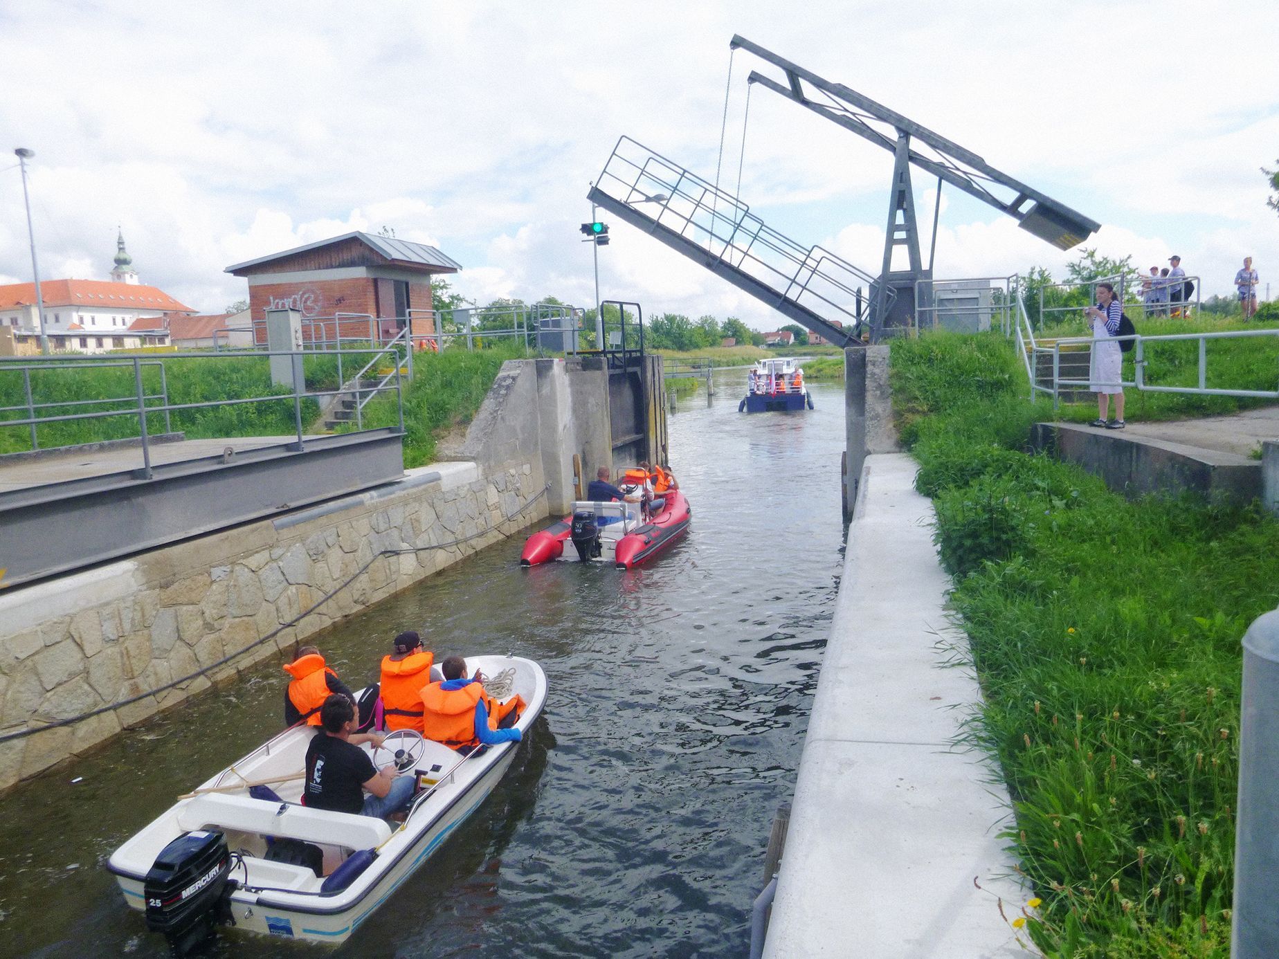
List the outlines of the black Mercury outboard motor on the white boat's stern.
{"label": "black Mercury outboard motor on the white boat's stern", "polygon": [[156,857],[143,886],[147,928],[162,932],[174,955],[191,955],[230,919],[230,869],[221,832],[183,832]]}

